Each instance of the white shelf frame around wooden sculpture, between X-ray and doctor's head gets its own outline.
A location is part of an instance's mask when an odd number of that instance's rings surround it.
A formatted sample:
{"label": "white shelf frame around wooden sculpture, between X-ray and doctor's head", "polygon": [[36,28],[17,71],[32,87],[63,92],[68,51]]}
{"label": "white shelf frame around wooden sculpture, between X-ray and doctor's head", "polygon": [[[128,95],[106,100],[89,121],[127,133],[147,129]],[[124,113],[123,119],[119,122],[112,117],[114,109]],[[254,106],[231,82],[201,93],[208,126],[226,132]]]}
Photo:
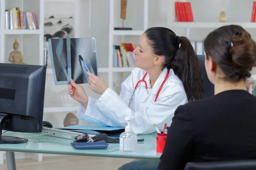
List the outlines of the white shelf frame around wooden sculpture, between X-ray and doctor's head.
{"label": "white shelf frame around wooden sculpture, between X-ray and doctor's head", "polygon": [[[121,67],[121,68],[113,68],[113,39],[115,36],[122,36],[122,40],[124,40],[124,36],[140,36],[144,33],[144,31],[148,27],[148,0],[143,0],[143,28],[142,30],[114,30],[114,18],[115,18],[115,0],[109,0],[109,39],[108,39],[108,85],[110,88],[113,88],[113,73],[124,73],[131,72],[134,68],[131,67]],[[120,10],[120,7],[117,8]]]}

